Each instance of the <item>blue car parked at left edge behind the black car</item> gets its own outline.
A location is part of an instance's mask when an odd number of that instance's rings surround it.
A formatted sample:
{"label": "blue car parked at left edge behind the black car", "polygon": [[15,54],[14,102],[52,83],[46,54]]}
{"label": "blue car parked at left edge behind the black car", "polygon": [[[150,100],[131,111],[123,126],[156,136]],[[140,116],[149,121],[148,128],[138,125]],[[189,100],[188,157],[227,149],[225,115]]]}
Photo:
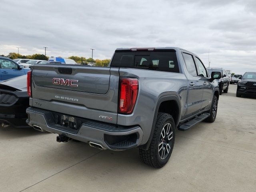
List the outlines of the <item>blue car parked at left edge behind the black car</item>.
{"label": "blue car parked at left edge behind the black car", "polygon": [[20,65],[13,60],[0,57],[0,81],[26,75],[28,71],[29,69],[21,68]]}

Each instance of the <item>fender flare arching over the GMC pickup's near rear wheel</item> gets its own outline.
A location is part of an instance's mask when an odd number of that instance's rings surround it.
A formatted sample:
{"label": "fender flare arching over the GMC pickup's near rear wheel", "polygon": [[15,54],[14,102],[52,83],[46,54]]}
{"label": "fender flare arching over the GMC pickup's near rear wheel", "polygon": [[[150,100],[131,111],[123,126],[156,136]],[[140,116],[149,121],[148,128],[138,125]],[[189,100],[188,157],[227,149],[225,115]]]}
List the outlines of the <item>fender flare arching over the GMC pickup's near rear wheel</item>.
{"label": "fender flare arching over the GMC pickup's near rear wheel", "polygon": [[156,104],[155,112],[154,112],[154,120],[153,120],[153,123],[152,123],[150,136],[149,136],[148,141],[146,142],[146,144],[139,146],[140,149],[148,150],[148,148],[150,146],[150,143],[151,143],[151,140],[152,140],[152,137],[153,137],[153,134],[154,134],[155,126],[156,126],[156,118],[157,118],[158,110],[159,110],[159,107],[160,107],[162,102],[172,100],[172,101],[175,101],[178,104],[179,115],[178,115],[177,122],[175,122],[175,128],[178,127],[178,124],[180,122],[180,113],[181,113],[181,104],[180,104],[180,99],[179,98],[180,98],[180,96],[177,94],[177,92],[165,92],[165,93],[163,93],[159,96],[158,102]]}

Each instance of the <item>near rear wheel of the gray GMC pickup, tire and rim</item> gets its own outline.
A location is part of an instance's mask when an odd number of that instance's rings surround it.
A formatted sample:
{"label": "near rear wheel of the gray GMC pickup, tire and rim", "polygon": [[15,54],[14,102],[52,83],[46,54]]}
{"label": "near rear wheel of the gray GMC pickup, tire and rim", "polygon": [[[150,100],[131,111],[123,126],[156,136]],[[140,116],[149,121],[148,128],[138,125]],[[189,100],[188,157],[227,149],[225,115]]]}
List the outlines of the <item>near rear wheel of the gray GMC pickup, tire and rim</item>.
{"label": "near rear wheel of the gray GMC pickup, tire and rim", "polygon": [[175,124],[172,116],[158,113],[154,135],[148,150],[140,149],[141,160],[155,168],[163,167],[169,160],[175,140]]}

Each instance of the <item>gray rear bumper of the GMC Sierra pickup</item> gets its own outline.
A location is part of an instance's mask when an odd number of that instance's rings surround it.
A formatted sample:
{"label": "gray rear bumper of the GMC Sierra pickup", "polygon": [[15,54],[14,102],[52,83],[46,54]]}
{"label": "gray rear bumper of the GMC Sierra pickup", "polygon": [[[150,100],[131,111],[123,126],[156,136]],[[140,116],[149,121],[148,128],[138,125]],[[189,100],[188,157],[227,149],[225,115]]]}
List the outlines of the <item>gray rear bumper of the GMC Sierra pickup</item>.
{"label": "gray rear bumper of the GMC Sierra pickup", "polygon": [[142,142],[143,132],[139,126],[116,127],[100,122],[84,119],[84,122],[75,131],[65,130],[65,127],[54,123],[52,112],[30,107],[26,110],[27,123],[38,126],[48,132],[56,133],[82,142],[94,142],[105,149],[126,150],[139,146]]}

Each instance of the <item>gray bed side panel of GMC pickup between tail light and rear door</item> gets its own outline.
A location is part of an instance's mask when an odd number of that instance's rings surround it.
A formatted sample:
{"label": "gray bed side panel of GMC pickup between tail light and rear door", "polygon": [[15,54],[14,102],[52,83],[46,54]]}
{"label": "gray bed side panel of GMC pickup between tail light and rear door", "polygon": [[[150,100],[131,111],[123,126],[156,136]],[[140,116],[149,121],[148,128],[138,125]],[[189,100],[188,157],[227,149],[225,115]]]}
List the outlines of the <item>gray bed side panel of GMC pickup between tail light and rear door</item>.
{"label": "gray bed side panel of GMC pickup between tail light and rear door", "polygon": [[181,106],[181,115],[186,113],[188,85],[184,74],[130,68],[120,68],[119,73],[120,77],[137,78],[139,93],[133,113],[118,114],[117,124],[139,125],[143,131],[142,144],[145,144],[150,136],[156,106],[161,96],[166,93],[168,95],[168,92],[176,92]]}

